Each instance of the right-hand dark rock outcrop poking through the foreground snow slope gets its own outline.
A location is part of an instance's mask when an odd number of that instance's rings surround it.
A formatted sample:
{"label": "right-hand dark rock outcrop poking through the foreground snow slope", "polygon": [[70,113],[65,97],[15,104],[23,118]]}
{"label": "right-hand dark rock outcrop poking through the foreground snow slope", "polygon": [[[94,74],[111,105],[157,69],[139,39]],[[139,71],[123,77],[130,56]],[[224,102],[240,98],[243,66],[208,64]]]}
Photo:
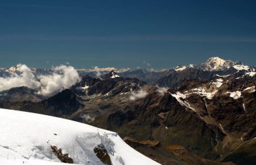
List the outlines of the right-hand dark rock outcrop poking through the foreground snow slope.
{"label": "right-hand dark rock outcrop poking through the foreground snow slope", "polygon": [[101,160],[102,163],[112,165],[108,152],[106,151],[106,148],[103,144],[99,144],[94,147],[94,153]]}

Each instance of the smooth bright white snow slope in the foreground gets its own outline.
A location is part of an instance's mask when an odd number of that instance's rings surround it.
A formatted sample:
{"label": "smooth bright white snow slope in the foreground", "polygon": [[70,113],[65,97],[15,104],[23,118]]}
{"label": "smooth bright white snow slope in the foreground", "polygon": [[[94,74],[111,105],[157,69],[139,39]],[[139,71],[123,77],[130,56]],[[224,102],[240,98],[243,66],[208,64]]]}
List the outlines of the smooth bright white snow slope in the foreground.
{"label": "smooth bright white snow slope in the foreground", "polygon": [[[113,164],[158,164],[129,147],[117,133],[42,114],[0,108],[0,164],[60,162],[51,145],[75,164],[103,164],[94,153],[102,143]],[[40,160],[40,161],[38,161]],[[45,160],[45,161],[42,161]],[[38,161],[38,162],[34,162]],[[43,162],[43,163],[42,163]]]}

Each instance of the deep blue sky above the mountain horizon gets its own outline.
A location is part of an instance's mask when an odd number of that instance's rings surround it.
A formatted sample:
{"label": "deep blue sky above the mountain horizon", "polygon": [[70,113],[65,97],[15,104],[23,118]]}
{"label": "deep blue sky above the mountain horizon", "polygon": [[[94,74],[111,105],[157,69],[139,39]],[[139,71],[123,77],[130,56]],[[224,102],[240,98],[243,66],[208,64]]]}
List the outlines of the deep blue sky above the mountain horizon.
{"label": "deep blue sky above the mountain horizon", "polygon": [[256,1],[1,0],[0,67],[256,65]]}

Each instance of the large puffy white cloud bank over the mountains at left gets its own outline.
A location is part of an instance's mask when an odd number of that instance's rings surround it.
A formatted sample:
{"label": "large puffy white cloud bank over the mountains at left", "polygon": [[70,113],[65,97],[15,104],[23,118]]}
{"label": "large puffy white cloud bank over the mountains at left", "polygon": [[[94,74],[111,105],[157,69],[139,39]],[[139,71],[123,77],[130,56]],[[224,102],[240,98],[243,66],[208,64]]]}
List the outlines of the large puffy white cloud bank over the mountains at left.
{"label": "large puffy white cloud bank over the mountains at left", "polygon": [[0,91],[27,86],[38,90],[38,94],[53,96],[79,81],[77,71],[71,66],[60,65],[53,67],[52,70],[53,73],[49,75],[36,76],[26,65],[18,64],[15,71],[9,71],[10,77],[0,77]]}

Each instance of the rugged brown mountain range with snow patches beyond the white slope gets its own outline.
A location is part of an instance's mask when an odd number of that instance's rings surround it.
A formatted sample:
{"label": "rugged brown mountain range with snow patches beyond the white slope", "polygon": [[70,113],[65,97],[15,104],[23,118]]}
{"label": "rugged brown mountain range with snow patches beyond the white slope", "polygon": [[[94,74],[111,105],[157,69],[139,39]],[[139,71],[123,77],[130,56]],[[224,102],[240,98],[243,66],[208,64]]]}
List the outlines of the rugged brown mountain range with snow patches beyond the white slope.
{"label": "rugged brown mountain range with snow patches beyond the white slope", "polygon": [[[37,70],[31,69],[51,74]],[[54,96],[27,87],[1,91],[0,107],[115,131],[160,164],[254,164],[255,67],[212,57],[164,71],[79,74],[76,84]]]}

